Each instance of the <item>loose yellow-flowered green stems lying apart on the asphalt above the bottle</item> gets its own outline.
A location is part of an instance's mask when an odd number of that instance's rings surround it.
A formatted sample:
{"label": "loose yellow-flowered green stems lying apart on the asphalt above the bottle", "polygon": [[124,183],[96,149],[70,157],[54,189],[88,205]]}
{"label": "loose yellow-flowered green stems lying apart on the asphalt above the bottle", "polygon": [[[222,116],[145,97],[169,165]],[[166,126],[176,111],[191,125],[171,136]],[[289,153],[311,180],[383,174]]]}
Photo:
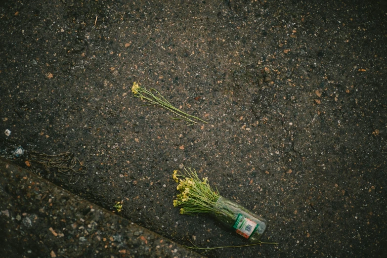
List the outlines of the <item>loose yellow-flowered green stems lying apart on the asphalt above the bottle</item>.
{"label": "loose yellow-flowered green stems lying apart on the asphalt above the bottle", "polygon": [[[153,94],[152,91],[154,91],[155,94]],[[138,83],[134,82],[133,86],[131,87],[131,92],[133,92],[133,95],[135,97],[139,97],[141,99],[145,99],[148,102],[150,102],[150,104],[146,104],[146,105],[143,105],[143,106],[157,104],[157,105],[160,105],[160,106],[168,109],[169,111],[171,111],[172,113],[176,114],[177,116],[179,116],[179,118],[172,118],[172,119],[176,119],[176,120],[183,119],[183,120],[187,121],[187,123],[190,123],[189,125],[198,124],[198,122],[196,122],[196,121],[194,121],[192,119],[196,119],[196,120],[202,121],[203,123],[208,124],[206,121],[201,120],[198,117],[191,116],[191,115],[189,115],[187,113],[184,113],[180,109],[172,106],[172,104],[167,99],[165,99],[165,97],[163,97],[159,93],[159,91],[157,91],[154,88],[151,88],[150,90],[147,90],[144,87],[140,87],[138,85]]]}

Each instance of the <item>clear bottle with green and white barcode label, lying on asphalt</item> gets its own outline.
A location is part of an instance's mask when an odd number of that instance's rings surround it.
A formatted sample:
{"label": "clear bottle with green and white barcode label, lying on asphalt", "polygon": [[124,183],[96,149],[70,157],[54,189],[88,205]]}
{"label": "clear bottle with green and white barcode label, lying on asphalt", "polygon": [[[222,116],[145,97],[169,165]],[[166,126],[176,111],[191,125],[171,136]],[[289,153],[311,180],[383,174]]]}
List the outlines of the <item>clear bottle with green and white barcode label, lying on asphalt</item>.
{"label": "clear bottle with green and white barcode label, lying on asphalt", "polygon": [[241,205],[220,196],[216,201],[215,218],[253,243],[258,243],[267,227],[267,220]]}

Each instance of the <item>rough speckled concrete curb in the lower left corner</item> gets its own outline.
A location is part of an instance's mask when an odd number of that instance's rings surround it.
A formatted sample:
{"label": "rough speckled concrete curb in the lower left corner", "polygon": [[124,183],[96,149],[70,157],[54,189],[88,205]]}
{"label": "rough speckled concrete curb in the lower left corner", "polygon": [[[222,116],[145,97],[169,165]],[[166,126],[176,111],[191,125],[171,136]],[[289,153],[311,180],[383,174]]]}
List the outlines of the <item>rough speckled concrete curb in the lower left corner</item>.
{"label": "rough speckled concrete curb in the lower left corner", "polygon": [[0,158],[0,257],[201,257]]}

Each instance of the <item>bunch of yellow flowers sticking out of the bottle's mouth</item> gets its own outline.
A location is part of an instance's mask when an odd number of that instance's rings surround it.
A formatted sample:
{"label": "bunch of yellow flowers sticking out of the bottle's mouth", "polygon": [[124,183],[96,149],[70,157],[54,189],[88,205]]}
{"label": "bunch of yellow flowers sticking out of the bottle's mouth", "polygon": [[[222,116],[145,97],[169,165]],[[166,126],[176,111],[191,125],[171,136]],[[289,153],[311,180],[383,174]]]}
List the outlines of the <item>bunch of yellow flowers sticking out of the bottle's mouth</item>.
{"label": "bunch of yellow flowers sticking out of the bottle's mouth", "polygon": [[[190,168],[184,168],[181,173],[173,171],[173,180],[177,185],[177,198],[173,200],[173,206],[181,206],[180,214],[196,215],[199,213],[217,213],[219,204],[217,200],[220,195],[210,186],[208,178],[200,180],[197,172]],[[230,213],[230,216],[232,214]]]}

